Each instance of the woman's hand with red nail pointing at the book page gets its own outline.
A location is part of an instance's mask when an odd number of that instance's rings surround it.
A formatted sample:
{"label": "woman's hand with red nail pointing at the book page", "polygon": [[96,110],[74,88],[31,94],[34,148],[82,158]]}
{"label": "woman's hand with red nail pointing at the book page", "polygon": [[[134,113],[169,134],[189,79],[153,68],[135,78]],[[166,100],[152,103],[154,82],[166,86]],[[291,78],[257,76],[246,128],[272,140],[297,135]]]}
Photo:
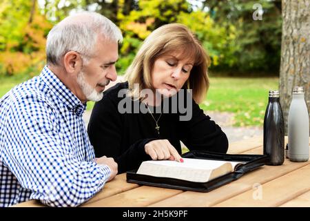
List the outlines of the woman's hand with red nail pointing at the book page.
{"label": "woman's hand with red nail pointing at the book page", "polygon": [[152,157],[152,160],[176,160],[183,162],[182,157],[176,148],[168,140],[153,140],[144,146],[145,153]]}

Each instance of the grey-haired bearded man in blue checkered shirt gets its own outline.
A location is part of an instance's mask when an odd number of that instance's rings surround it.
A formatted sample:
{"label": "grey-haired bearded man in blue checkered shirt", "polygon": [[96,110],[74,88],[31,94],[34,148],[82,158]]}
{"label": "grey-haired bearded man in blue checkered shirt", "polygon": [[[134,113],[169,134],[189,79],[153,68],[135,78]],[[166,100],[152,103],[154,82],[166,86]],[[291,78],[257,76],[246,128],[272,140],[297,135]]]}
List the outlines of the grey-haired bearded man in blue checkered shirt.
{"label": "grey-haired bearded man in blue checkered shirt", "polygon": [[122,39],[102,15],[67,17],[48,34],[41,75],[0,99],[0,206],[77,206],[116,175],[112,158],[94,158],[82,114],[116,79]]}

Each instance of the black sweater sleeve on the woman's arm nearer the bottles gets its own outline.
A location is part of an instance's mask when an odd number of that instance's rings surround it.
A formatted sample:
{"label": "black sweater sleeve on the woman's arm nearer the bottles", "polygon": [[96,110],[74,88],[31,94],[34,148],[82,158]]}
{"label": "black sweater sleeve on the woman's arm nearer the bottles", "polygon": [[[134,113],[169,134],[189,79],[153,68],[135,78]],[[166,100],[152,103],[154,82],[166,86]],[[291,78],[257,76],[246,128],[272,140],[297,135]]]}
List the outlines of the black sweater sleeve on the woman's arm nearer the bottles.
{"label": "black sweater sleeve on the woman's arm nearer the bottles", "polygon": [[227,152],[227,136],[220,126],[203,113],[194,100],[192,100],[192,118],[179,121],[179,124],[180,140],[189,150]]}

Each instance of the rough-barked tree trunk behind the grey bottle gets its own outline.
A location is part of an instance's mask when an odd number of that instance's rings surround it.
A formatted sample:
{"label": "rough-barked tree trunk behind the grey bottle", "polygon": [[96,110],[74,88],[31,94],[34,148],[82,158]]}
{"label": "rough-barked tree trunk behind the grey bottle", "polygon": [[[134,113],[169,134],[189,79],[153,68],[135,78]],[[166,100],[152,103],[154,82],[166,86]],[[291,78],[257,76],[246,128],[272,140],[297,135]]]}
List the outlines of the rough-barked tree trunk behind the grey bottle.
{"label": "rough-barked tree trunk behind the grey bottle", "polygon": [[282,0],[280,103],[285,117],[286,134],[293,86],[304,87],[304,99],[308,112],[310,111],[309,6],[309,0]]}

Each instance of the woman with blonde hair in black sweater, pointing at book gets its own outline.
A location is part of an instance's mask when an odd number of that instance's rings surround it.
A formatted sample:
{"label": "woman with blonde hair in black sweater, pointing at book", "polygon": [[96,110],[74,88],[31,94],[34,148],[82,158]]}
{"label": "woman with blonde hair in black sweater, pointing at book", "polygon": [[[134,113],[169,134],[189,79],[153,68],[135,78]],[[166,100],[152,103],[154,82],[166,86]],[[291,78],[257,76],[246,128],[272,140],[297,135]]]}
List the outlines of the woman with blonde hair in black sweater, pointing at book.
{"label": "woman with blonde hair in black sweater, pointing at book", "polygon": [[96,157],[114,157],[118,173],[144,160],[176,160],[189,150],[226,153],[227,136],[198,103],[209,87],[209,57],[184,25],[167,24],[143,42],[125,82],[105,92],[90,117]]}

